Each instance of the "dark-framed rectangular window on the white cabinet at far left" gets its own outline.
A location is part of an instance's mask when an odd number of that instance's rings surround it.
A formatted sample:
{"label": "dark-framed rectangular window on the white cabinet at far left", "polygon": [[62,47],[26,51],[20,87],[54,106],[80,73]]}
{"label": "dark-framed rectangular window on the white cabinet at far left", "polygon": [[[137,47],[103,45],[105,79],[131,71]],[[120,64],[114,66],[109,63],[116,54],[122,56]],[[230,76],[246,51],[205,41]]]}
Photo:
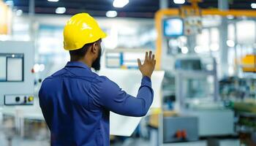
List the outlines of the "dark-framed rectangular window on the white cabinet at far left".
{"label": "dark-framed rectangular window on the white cabinet at far left", "polygon": [[23,81],[23,54],[0,53],[0,82]]}

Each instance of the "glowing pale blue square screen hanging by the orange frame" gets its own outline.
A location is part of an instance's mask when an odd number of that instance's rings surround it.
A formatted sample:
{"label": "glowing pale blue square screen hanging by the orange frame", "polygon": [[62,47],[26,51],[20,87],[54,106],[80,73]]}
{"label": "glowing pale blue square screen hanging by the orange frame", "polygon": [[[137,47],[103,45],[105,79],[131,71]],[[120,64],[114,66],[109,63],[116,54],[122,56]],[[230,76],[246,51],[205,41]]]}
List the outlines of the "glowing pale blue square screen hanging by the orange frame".
{"label": "glowing pale blue square screen hanging by the orange frame", "polygon": [[163,21],[165,37],[179,37],[184,34],[183,20],[180,18],[168,18]]}

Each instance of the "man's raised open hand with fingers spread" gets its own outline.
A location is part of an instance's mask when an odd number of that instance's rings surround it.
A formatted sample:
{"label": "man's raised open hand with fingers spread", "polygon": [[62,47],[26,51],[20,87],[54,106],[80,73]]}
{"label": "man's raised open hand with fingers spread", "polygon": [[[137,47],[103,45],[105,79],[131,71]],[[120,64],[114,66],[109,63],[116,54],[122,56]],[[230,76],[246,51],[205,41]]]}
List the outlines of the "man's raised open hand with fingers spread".
{"label": "man's raised open hand with fingers spread", "polygon": [[140,72],[143,76],[151,78],[152,73],[154,72],[154,66],[156,65],[156,60],[154,59],[154,54],[152,51],[146,52],[144,63],[141,64],[140,59],[138,58],[138,66]]}

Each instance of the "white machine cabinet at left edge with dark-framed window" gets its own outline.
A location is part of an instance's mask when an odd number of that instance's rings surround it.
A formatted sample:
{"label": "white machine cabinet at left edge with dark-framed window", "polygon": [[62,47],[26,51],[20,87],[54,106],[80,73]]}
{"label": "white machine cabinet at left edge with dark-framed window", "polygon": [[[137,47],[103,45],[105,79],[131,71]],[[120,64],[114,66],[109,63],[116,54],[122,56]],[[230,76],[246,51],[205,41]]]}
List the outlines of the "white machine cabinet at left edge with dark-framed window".
{"label": "white machine cabinet at left edge with dark-framed window", "polygon": [[33,66],[32,42],[0,42],[0,105],[34,103]]}

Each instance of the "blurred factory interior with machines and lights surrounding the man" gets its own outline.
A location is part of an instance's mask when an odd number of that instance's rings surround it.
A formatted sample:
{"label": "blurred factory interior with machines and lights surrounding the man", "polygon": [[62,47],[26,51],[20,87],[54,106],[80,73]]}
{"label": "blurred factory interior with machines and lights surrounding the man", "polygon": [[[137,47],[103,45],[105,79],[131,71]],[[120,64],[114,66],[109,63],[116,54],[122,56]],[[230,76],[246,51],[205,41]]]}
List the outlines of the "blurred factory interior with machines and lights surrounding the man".
{"label": "blurred factory interior with machines and lights surrounding the man", "polygon": [[157,104],[110,145],[256,145],[255,9],[253,0],[0,0],[0,145],[50,145],[38,91],[69,61],[63,28],[79,12],[108,34],[100,74],[132,86],[118,72],[136,74],[147,50],[161,71]]}

